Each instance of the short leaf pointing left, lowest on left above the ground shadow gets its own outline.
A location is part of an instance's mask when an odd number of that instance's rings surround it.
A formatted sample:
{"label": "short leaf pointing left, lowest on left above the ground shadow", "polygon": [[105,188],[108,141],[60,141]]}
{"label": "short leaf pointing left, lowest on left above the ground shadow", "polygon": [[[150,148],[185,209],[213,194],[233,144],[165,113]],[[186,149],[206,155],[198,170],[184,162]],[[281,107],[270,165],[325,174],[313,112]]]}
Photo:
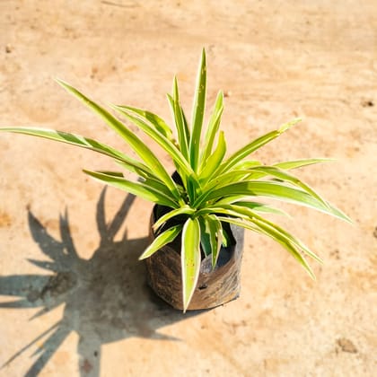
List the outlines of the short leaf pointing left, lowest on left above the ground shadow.
{"label": "short leaf pointing left, lowest on left above the ground shadow", "polygon": [[83,170],[83,172],[95,178],[96,180],[101,180],[101,182],[105,182],[110,186],[113,186],[118,189],[123,189],[138,197],[143,197],[144,199],[149,200],[153,203],[157,203],[162,206],[170,206],[172,208],[177,208],[179,206],[177,202],[174,202],[173,198],[167,196],[163,192],[160,192],[156,189],[153,189],[150,186],[145,185],[144,183],[132,182],[124,178],[101,173],[98,171]]}

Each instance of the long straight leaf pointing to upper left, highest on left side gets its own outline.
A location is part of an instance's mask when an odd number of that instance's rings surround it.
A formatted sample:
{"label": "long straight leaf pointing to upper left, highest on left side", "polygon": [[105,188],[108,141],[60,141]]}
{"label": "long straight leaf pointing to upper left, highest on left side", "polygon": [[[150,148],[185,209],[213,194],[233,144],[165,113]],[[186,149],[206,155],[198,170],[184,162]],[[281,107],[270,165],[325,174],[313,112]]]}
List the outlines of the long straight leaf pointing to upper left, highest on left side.
{"label": "long straight leaf pointing to upper left, highest on left side", "polygon": [[109,111],[101,108],[100,105],[91,101],[89,98],[85,97],[83,93],[79,92],[73,86],[65,83],[61,80],[57,80],[61,86],[63,86],[67,92],[73,94],[76,98],[82,101],[86,106],[100,115],[106,123],[112,127],[115,131],[122,136],[128,145],[134,149],[134,151],[142,158],[145,164],[151,169],[154,174],[160,178],[166,186],[171,190],[173,197],[180,199],[180,194],[174,181],[171,179],[169,173],[165,170],[160,160],[152,153],[152,151],[146,146],[142,140],[140,140],[131,130],[129,130],[123,123],[121,123],[117,118],[114,118]]}

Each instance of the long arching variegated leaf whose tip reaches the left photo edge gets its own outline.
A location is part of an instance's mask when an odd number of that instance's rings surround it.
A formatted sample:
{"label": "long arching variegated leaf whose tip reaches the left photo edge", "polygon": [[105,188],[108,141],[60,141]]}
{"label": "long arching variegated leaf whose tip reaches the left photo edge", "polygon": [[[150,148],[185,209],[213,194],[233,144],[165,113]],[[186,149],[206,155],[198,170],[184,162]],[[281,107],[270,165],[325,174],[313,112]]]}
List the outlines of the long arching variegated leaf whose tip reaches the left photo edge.
{"label": "long arching variegated leaf whose tip reaches the left photo edge", "polygon": [[84,149],[89,149],[93,152],[105,154],[113,158],[117,162],[121,162],[128,171],[136,172],[137,174],[142,172],[143,174],[153,175],[152,171],[150,171],[150,169],[145,166],[144,163],[138,162],[128,157],[126,154],[110,147],[109,145],[104,145],[88,137],[39,127],[2,127],[0,128],[0,131],[13,132],[15,134],[23,134],[29,136],[38,136],[60,143],[79,146]]}

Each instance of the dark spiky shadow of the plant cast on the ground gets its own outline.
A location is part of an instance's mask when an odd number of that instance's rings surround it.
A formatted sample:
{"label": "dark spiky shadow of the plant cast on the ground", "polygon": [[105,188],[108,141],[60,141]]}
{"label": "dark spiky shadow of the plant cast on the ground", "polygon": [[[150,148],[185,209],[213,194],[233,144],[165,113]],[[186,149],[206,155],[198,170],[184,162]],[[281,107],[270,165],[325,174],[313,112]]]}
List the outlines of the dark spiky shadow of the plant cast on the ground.
{"label": "dark spiky shadow of the plant cast on the ground", "polygon": [[[39,356],[25,375],[38,375],[58,347],[75,331],[79,337],[80,375],[99,376],[102,345],[130,337],[180,340],[165,336],[158,329],[200,312],[182,314],[153,295],[145,284],[145,265],[138,261],[148,243],[147,238],[127,240],[125,232],[121,241],[114,241],[135,197],[127,195],[107,224],[105,196],[106,188],[97,204],[96,220],[101,241],[91,259],[82,259],[77,254],[67,211],[60,215],[59,241],[48,234],[29,210],[31,236],[50,260],[28,260],[52,275],[0,276],[0,295],[19,299],[0,302],[0,309],[40,307],[31,318],[34,319],[64,304],[64,314],[56,324],[10,357],[2,368],[35,346],[38,349],[33,355]],[[39,339],[45,337],[48,338],[43,346],[37,347]]]}

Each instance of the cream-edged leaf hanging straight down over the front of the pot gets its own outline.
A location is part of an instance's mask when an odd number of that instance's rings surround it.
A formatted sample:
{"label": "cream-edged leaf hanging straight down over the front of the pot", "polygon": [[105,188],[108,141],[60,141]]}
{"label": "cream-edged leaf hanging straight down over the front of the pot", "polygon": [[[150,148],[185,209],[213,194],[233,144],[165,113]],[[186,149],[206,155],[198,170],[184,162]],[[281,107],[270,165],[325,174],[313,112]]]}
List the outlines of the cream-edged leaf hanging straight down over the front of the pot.
{"label": "cream-edged leaf hanging straight down over the front of the pot", "polygon": [[182,295],[183,312],[189,307],[192,295],[197,286],[200,271],[200,225],[197,218],[189,218],[182,231]]}

